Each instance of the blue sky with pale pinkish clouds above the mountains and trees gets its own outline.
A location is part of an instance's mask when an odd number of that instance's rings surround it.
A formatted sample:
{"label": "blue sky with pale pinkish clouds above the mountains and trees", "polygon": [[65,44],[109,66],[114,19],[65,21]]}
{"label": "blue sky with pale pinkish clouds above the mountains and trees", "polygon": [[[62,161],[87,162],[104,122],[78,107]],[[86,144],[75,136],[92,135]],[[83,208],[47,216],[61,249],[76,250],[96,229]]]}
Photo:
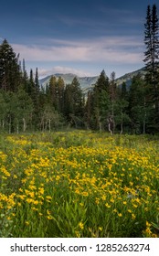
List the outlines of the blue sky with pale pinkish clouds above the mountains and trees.
{"label": "blue sky with pale pinkish clouds above the mountains and trees", "polygon": [[[4,38],[39,78],[55,73],[116,78],[144,66],[152,0],[1,0]],[[157,5],[157,7],[159,7]]]}

